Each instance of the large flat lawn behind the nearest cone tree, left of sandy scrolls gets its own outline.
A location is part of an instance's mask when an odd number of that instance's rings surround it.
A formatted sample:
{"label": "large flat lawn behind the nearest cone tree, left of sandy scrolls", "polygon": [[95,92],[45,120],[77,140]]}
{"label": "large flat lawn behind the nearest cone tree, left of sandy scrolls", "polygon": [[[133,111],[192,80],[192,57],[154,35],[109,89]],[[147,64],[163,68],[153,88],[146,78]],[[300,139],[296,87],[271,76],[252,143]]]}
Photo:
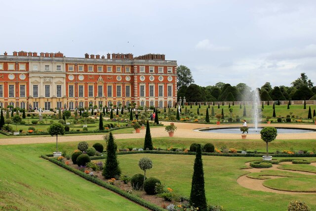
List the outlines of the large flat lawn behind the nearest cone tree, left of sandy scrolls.
{"label": "large flat lawn behind the nearest cone tree, left of sandy scrolls", "polygon": [[[142,173],[137,163],[140,158],[153,160],[153,168],[146,172],[148,177],[157,177],[167,187],[190,196],[195,156],[190,155],[119,155],[123,174],[132,176]],[[254,191],[237,184],[237,178],[246,173],[241,170],[244,163],[254,158],[202,156],[205,192],[208,204],[222,205],[227,211],[273,210],[284,211],[290,201],[305,201],[312,210],[316,209],[315,195],[285,195]]]}

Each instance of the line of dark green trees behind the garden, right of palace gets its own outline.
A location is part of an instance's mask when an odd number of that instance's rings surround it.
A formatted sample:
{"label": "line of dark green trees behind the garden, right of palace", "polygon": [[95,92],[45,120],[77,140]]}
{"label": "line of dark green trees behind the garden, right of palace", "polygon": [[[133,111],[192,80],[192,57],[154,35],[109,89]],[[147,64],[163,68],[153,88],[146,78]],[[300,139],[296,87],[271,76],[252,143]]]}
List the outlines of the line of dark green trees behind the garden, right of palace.
{"label": "line of dark green trees behind the garden, right of palace", "polygon": [[[191,71],[186,66],[178,67],[178,100],[186,97],[187,102],[213,102],[213,101],[250,101],[251,88],[244,83],[236,86],[219,82],[215,85],[199,86],[193,84]],[[308,79],[305,73],[291,83],[292,86],[275,86],[272,88],[266,82],[261,88],[257,88],[261,100],[316,100],[316,86]]]}

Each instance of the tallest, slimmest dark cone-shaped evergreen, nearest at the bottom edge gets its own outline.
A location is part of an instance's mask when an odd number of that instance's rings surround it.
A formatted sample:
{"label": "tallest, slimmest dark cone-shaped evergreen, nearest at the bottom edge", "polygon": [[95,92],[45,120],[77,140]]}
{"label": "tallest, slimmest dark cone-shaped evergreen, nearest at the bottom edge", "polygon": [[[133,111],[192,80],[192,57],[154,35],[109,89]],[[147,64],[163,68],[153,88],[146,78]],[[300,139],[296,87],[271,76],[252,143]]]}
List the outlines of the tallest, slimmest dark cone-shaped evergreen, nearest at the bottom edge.
{"label": "tallest, slimmest dark cone-shaped evergreen, nearest at the bottom edge", "polygon": [[198,208],[198,210],[200,211],[207,210],[204,188],[204,171],[200,144],[197,145],[196,159],[193,168],[190,205],[194,206],[195,208]]}

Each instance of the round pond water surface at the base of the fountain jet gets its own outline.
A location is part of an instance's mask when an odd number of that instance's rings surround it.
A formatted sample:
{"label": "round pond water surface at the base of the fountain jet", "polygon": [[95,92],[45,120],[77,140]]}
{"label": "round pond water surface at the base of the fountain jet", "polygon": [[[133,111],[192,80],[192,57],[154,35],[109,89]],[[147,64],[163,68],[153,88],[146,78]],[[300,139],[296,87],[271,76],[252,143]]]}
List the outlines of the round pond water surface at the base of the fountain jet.
{"label": "round pond water surface at the base of the fountain jet", "polygon": [[[260,134],[260,130],[263,127],[258,127],[257,130],[254,127],[249,127],[248,134]],[[304,129],[304,128],[285,128],[276,127],[277,133],[305,133],[305,132],[316,132],[316,129]],[[230,134],[240,134],[241,131],[239,127],[223,127],[223,128],[204,128],[199,129],[201,132],[211,132],[211,133],[230,133]],[[247,133],[245,133],[247,134]]]}

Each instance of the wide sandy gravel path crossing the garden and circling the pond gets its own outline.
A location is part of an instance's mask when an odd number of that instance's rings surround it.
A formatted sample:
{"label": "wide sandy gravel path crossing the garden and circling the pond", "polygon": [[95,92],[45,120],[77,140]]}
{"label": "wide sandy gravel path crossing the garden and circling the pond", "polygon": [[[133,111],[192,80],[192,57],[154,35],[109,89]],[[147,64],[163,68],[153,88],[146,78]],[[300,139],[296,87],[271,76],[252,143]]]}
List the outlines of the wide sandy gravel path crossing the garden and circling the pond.
{"label": "wide sandy gravel path crossing the garden and circling the pond", "polygon": [[[170,124],[169,122],[162,122],[163,125]],[[208,124],[192,124],[192,123],[175,123],[177,130],[174,133],[174,137],[184,138],[208,138],[208,139],[241,139],[240,134],[223,134],[223,133],[208,133],[200,132],[198,128],[221,128],[221,127],[238,127],[239,125],[208,125]],[[241,124],[240,124],[241,126]],[[266,127],[267,124],[259,125],[259,127]],[[273,124],[273,127],[295,127],[295,128],[312,128],[316,129],[316,125],[292,125],[292,124]],[[252,127],[250,124],[249,127]],[[140,133],[124,133],[115,134],[118,139],[129,138],[144,138],[146,130],[141,130]],[[87,140],[102,140],[104,134],[98,135],[78,135],[78,136],[59,136],[58,142],[69,141],[87,141]],[[167,137],[168,133],[164,130],[164,127],[151,128],[152,137]],[[276,139],[315,139],[316,132],[307,133],[291,133],[291,134],[278,134]],[[247,134],[247,139],[260,139],[260,134]],[[16,137],[16,138],[1,138],[0,145],[8,144],[31,144],[31,143],[54,143],[56,137]]]}

